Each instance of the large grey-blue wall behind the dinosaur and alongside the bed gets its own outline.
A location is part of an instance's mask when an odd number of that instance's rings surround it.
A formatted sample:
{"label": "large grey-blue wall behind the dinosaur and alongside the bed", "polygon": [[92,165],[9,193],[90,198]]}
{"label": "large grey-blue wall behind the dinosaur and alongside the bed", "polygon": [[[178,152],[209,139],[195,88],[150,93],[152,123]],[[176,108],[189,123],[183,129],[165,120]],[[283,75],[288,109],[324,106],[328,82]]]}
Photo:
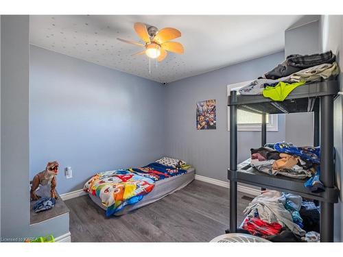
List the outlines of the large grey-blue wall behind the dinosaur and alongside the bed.
{"label": "large grey-blue wall behind the dinosaur and alongside the bed", "polygon": [[165,88],[157,82],[31,46],[29,90],[30,178],[58,160],[59,193],[81,189],[97,171],[163,156]]}

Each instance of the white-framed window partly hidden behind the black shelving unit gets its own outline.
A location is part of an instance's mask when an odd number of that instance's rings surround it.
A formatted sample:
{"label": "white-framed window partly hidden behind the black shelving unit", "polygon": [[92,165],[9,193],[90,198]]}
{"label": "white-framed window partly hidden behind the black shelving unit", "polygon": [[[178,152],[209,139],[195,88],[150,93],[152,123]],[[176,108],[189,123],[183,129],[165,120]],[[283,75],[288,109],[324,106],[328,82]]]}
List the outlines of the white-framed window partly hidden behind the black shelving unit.
{"label": "white-framed window partly hidden behind the black shelving unit", "polygon": [[[239,90],[243,86],[248,85],[252,81],[241,82],[237,84],[228,85],[227,95],[230,95],[230,91]],[[239,93],[238,93],[239,94]],[[238,131],[261,131],[262,115],[252,112],[246,112],[244,110],[237,110],[237,130]],[[230,107],[228,107],[228,130],[230,130]],[[267,115],[267,130],[278,131],[278,115]]]}

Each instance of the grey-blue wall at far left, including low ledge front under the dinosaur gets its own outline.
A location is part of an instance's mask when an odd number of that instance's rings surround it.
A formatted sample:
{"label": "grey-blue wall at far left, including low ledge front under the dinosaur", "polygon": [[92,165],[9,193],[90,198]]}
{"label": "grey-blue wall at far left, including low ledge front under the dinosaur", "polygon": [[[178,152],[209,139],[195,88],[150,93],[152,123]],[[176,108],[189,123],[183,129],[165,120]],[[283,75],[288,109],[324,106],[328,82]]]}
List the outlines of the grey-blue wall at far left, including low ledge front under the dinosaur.
{"label": "grey-blue wall at far left, including low ledge front under the dinosaur", "polygon": [[1,239],[69,232],[69,215],[29,225],[29,16],[1,16]]}

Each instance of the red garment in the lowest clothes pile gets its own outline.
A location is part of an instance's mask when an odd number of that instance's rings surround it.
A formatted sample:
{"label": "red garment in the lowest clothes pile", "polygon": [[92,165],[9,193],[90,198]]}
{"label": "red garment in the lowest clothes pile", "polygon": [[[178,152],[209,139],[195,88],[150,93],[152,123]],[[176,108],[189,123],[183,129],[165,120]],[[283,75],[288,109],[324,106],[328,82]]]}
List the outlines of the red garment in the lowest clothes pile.
{"label": "red garment in the lowest clothes pile", "polygon": [[277,222],[268,223],[254,217],[246,218],[242,228],[248,230],[252,235],[272,236],[274,234],[279,234],[283,226]]}

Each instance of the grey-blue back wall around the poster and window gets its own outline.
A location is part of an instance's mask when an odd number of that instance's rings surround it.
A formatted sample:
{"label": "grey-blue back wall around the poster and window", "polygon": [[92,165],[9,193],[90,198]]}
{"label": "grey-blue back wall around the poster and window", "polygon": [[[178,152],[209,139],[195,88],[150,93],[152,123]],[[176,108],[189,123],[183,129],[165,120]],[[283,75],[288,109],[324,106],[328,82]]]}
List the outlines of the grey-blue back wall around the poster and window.
{"label": "grey-blue back wall around the poster and window", "polygon": [[[283,59],[283,52],[274,53],[168,84],[165,154],[186,160],[196,167],[198,175],[228,181],[227,85],[255,79]],[[217,101],[217,130],[196,130],[196,102],[206,99]],[[284,140],[284,127],[285,117],[279,115],[279,132],[268,132],[267,141]],[[250,156],[250,147],[260,145],[260,132],[238,132],[239,161]]]}

